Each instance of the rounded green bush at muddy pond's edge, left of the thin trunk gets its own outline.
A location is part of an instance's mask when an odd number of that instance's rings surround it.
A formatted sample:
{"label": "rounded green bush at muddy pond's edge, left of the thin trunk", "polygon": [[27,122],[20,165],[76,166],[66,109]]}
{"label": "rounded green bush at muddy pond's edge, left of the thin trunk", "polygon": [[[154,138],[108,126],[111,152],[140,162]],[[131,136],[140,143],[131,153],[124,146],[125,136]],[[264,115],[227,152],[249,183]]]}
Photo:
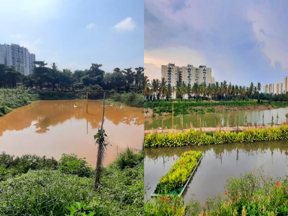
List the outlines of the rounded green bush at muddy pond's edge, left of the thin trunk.
{"label": "rounded green bush at muddy pond's edge, left of the thin trunk", "polygon": [[58,161],[58,169],[66,174],[91,177],[93,170],[84,159],[77,158],[75,154],[62,154],[62,158]]}

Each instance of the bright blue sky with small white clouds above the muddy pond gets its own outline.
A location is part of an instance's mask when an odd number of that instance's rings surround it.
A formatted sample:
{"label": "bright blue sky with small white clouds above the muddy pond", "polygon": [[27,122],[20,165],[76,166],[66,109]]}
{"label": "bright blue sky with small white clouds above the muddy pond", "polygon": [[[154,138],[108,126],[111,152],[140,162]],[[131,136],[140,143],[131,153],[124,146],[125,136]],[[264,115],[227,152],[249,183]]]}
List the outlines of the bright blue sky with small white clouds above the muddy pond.
{"label": "bright blue sky with small white clouds above the muddy pond", "polygon": [[105,72],[143,67],[143,1],[0,0],[0,43],[16,43],[47,66]]}

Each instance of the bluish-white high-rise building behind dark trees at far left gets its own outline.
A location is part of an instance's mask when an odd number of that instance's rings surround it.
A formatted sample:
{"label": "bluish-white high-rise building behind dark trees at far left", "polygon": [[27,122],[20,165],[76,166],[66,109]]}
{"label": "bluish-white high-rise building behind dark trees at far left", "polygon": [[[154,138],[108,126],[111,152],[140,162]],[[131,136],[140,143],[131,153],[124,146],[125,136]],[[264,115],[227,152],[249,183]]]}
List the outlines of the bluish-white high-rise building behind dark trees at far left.
{"label": "bluish-white high-rise building behind dark trees at far left", "polygon": [[[4,57],[2,57],[1,50],[4,51]],[[3,59],[4,65],[13,66],[16,71],[26,76],[33,73],[35,54],[30,54],[25,47],[20,47],[18,44],[13,43],[11,45],[0,44],[0,64]]]}

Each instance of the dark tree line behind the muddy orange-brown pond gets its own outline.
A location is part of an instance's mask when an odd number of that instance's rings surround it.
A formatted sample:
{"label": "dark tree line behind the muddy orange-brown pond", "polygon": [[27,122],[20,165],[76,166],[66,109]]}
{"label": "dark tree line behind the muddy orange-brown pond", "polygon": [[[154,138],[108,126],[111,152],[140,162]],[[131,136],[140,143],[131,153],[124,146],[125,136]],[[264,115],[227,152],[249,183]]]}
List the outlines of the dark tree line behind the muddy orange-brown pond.
{"label": "dark tree line behind the muddy orange-brown pond", "polygon": [[14,67],[7,67],[0,64],[0,88],[15,88],[17,85],[24,85],[26,88],[50,88],[50,89],[87,89],[101,92],[103,90],[134,91],[141,92],[144,89],[144,68],[137,67],[113,69],[111,73],[105,73],[101,64],[94,64],[89,69],[59,70],[56,63],[47,67],[44,61],[35,61],[32,74],[22,75]]}

